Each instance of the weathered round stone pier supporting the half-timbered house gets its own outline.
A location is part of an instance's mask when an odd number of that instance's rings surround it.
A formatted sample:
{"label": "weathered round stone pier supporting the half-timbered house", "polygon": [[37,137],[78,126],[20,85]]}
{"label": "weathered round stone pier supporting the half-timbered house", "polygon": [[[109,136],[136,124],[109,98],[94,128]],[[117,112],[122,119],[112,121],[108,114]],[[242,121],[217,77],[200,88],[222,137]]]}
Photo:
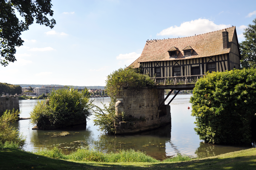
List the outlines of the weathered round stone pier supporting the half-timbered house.
{"label": "weathered round stone pier supporting the half-timbered house", "polygon": [[122,117],[122,111],[138,121],[119,122],[116,133],[135,133],[154,129],[171,122],[170,106],[158,106],[164,99],[163,89],[143,88],[140,90],[122,90],[116,96],[116,115]]}

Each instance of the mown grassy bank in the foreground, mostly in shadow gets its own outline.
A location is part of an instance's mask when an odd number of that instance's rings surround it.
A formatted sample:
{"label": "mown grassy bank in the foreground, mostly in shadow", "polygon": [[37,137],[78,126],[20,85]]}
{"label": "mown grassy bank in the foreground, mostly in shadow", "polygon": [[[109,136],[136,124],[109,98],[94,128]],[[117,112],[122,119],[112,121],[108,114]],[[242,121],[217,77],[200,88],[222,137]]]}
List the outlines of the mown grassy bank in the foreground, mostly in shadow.
{"label": "mown grassy bank in the foreground, mostly in shadow", "polygon": [[2,170],[51,169],[51,170],[169,170],[169,169],[256,169],[256,148],[226,153],[219,156],[183,162],[95,162],[52,159],[17,149],[1,148]]}

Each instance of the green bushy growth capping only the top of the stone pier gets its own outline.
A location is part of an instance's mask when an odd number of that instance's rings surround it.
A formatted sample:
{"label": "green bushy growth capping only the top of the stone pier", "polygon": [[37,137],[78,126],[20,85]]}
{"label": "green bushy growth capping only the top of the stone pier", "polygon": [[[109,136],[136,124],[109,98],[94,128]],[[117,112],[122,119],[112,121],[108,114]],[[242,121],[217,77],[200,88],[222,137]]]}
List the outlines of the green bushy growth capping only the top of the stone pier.
{"label": "green bushy growth capping only the top of the stone pier", "polygon": [[140,74],[135,68],[119,68],[109,74],[106,80],[108,95],[115,96],[121,89],[152,87],[154,81],[148,75]]}

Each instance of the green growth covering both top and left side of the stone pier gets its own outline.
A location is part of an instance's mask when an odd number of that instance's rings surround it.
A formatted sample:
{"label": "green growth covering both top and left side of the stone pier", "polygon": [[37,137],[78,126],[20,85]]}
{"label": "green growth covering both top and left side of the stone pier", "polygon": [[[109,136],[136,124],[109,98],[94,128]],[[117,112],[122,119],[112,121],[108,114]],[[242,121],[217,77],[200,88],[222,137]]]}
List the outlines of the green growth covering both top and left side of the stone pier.
{"label": "green growth covering both top and left side of the stone pier", "polygon": [[109,74],[106,80],[105,91],[111,97],[109,106],[104,105],[104,109],[96,106],[94,110],[94,125],[107,133],[115,133],[114,122],[117,121],[115,113],[116,94],[122,89],[139,89],[143,87],[153,87],[154,81],[146,74],[140,74],[140,69],[132,67],[119,68]]}

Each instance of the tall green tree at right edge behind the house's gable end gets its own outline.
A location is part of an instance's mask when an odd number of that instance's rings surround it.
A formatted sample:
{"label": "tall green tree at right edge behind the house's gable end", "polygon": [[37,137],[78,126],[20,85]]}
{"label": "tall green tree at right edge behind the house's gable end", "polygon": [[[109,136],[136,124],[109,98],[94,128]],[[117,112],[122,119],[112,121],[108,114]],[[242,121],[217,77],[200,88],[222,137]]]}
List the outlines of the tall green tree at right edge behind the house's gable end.
{"label": "tall green tree at right edge behind the house's gable end", "polygon": [[244,29],[245,41],[239,43],[241,51],[242,68],[256,68],[256,18],[253,25]]}

